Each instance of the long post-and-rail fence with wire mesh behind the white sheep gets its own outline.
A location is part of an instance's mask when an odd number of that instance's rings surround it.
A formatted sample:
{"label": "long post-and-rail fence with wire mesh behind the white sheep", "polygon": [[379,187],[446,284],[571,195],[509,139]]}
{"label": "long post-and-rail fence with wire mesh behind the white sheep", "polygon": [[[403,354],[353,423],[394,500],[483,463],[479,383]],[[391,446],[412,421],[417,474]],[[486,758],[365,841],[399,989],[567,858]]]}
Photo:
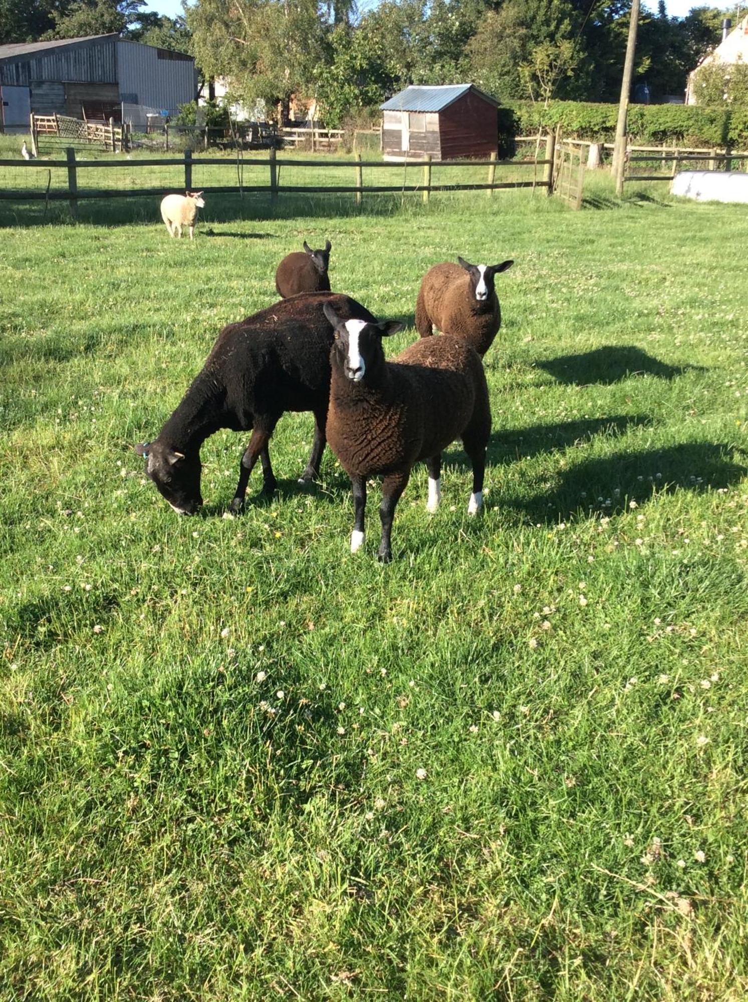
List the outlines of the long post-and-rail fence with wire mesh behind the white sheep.
{"label": "long post-and-rail fence with wire mesh behind the white sheep", "polygon": [[[252,196],[276,207],[281,199],[336,196],[357,208],[380,196],[404,200],[433,192],[472,191],[491,196],[501,189],[548,187],[548,161],[457,160],[385,162],[271,150],[236,150],[224,155],[161,157],[133,151],[112,157],[90,148],[67,147],[59,154],[31,161],[0,159],[0,205],[67,201],[73,213],[88,200],[152,199],[172,191],[203,190],[209,201],[219,196]],[[216,196],[215,198],[211,196]],[[150,211],[151,209],[149,209]]]}

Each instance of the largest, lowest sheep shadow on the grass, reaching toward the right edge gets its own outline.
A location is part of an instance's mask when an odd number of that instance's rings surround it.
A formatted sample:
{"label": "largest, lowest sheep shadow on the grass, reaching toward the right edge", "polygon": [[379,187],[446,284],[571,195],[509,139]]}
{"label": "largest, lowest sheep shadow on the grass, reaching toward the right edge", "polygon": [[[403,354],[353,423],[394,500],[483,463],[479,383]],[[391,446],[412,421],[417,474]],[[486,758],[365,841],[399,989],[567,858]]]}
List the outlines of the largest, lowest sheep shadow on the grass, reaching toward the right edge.
{"label": "largest, lowest sheep shadow on the grass, reaching toward the right edge", "polygon": [[631,502],[645,504],[656,494],[688,490],[701,493],[729,487],[748,473],[726,444],[687,442],[666,449],[618,452],[589,459],[560,472],[549,490],[527,498],[499,495],[500,507],[513,508],[533,524],[558,522],[572,515],[619,515]]}

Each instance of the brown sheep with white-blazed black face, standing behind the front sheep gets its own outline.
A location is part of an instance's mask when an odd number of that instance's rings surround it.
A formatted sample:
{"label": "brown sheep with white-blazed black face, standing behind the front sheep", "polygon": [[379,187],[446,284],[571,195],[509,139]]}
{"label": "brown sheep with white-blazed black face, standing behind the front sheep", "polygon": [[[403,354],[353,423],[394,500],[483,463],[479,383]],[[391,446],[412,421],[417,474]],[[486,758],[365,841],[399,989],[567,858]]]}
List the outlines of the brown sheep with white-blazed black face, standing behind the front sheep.
{"label": "brown sheep with white-blazed black face, standing behind the front sheep", "polygon": [[501,326],[494,278],[514,263],[470,265],[462,258],[457,262],[434,265],[423,277],[415,305],[416,331],[422,338],[433,334],[433,328],[451,334],[482,359]]}

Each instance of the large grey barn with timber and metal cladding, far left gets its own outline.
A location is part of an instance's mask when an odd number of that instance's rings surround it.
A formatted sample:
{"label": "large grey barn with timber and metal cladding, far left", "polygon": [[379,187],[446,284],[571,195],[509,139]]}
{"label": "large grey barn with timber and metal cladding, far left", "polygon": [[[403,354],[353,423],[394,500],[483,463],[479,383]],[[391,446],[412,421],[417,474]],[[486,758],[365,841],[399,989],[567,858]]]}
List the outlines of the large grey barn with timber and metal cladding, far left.
{"label": "large grey barn with timber and metal cladding, far left", "polygon": [[2,125],[28,129],[29,114],[109,118],[145,127],[146,114],[195,100],[195,59],[184,52],[91,35],[53,42],[0,45]]}

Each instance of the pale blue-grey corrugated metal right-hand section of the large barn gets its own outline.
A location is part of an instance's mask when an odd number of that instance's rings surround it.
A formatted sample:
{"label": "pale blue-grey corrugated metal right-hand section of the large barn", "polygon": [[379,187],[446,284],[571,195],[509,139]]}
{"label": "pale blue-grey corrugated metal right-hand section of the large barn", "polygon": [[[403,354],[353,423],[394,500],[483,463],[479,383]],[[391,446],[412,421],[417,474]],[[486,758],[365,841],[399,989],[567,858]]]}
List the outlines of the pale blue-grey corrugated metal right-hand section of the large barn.
{"label": "pale blue-grey corrugated metal right-hand section of the large barn", "polygon": [[175,115],[198,93],[195,60],[182,52],[118,41],[117,73],[124,115],[135,129],[145,127],[147,113]]}

